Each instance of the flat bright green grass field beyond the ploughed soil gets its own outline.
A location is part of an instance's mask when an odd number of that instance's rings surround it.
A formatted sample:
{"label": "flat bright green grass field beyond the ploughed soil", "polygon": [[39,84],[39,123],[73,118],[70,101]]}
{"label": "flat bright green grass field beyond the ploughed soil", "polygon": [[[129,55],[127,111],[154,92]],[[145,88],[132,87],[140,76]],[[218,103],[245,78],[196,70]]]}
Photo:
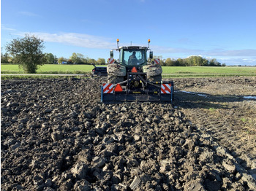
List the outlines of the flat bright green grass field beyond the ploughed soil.
{"label": "flat bright green grass field beyond the ploughed soil", "polygon": [[[92,65],[52,65],[40,66],[37,74],[86,74],[91,73]],[[256,75],[256,67],[210,67],[210,66],[163,66],[163,74],[168,76],[232,76]],[[18,65],[1,65],[1,74],[23,74]]]}

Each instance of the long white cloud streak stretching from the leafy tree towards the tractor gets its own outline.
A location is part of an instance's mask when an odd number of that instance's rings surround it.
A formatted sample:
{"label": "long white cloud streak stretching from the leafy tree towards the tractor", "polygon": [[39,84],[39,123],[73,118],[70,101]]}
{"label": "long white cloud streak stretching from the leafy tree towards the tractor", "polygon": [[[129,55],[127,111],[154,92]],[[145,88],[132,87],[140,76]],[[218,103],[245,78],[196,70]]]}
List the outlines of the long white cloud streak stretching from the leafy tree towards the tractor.
{"label": "long white cloud streak stretching from the leafy tree towards the tractor", "polygon": [[[26,33],[19,33],[19,36],[24,36]],[[59,42],[77,47],[112,49],[116,47],[116,43],[112,39],[102,36],[93,36],[89,34],[64,33],[64,34],[49,34],[49,33],[28,33],[35,35],[45,42]],[[111,41],[111,42],[110,42]]]}

